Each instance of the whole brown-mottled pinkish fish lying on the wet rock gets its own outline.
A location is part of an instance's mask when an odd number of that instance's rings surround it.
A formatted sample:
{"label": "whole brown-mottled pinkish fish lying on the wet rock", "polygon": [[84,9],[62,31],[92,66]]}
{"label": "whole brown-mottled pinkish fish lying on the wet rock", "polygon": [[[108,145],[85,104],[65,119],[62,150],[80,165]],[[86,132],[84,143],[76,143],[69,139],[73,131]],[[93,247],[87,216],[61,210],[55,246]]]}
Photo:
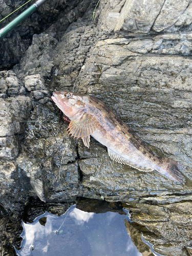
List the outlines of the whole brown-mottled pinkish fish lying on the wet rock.
{"label": "whole brown-mottled pinkish fish lying on the wet rock", "polygon": [[182,183],[183,165],[173,159],[158,157],[146,143],[107,105],[92,95],[63,91],[51,99],[69,118],[68,132],[90,146],[90,136],[108,148],[110,158],[142,172],[158,173]]}

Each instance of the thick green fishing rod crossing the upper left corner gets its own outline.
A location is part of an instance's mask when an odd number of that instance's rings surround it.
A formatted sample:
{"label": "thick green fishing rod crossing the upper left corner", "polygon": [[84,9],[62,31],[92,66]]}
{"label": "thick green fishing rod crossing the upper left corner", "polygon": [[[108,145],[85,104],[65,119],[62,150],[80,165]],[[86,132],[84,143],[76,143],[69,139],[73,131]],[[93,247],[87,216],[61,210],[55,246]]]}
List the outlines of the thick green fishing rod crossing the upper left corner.
{"label": "thick green fishing rod crossing the upper left corner", "polygon": [[31,5],[29,8],[27,8],[24,12],[22,12],[20,15],[18,15],[16,18],[12,20],[12,22],[8,23],[4,28],[0,29],[0,39],[7,35],[9,31],[14,29],[19,23],[23,22],[25,18],[27,18],[29,15],[31,15],[34,11],[37,10],[39,6],[44,4],[47,0],[38,0],[33,5]]}

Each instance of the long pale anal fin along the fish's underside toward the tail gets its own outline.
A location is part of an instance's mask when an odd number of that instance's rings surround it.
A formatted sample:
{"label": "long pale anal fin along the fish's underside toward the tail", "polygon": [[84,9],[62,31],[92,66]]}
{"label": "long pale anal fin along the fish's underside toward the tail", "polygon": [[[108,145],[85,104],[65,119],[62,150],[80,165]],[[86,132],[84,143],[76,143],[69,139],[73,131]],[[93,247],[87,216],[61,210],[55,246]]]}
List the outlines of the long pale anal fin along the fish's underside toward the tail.
{"label": "long pale anal fin along the fish's underside toward the tail", "polygon": [[146,168],[146,167],[142,167],[142,166],[139,166],[137,164],[134,164],[130,161],[127,161],[125,158],[121,157],[120,155],[116,154],[115,152],[113,152],[112,150],[110,150],[108,148],[108,154],[110,156],[110,158],[117,162],[117,163],[121,163],[121,164],[126,164],[126,165],[130,165],[131,167],[133,168],[136,168],[138,170],[142,170],[142,172],[152,172],[154,169],[152,168]]}

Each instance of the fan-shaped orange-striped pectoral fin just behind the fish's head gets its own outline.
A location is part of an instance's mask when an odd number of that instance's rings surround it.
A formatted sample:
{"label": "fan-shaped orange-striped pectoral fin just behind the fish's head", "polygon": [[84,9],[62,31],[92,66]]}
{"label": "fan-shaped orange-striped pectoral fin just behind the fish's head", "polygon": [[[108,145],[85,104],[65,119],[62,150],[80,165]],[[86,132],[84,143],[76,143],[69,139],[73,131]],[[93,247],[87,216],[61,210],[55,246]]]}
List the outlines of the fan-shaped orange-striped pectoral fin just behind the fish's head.
{"label": "fan-shaped orange-striped pectoral fin just behind the fish's head", "polygon": [[[72,120],[68,126],[71,136],[84,138],[97,129],[97,120],[90,114],[84,113],[80,120]],[[88,139],[86,139],[88,141]],[[84,142],[84,141],[83,141]]]}

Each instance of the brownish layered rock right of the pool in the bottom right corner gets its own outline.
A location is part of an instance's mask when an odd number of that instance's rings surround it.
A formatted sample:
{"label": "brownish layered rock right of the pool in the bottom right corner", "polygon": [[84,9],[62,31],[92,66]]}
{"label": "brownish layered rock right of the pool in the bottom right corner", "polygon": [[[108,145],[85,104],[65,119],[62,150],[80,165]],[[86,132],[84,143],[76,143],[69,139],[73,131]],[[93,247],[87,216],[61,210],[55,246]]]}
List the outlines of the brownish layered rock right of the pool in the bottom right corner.
{"label": "brownish layered rock right of the pool in the bottom right corner", "polygon": [[164,205],[129,203],[124,207],[130,210],[133,222],[152,231],[143,230],[143,238],[154,245],[156,252],[170,256],[188,255],[186,247],[192,245],[191,202]]}

